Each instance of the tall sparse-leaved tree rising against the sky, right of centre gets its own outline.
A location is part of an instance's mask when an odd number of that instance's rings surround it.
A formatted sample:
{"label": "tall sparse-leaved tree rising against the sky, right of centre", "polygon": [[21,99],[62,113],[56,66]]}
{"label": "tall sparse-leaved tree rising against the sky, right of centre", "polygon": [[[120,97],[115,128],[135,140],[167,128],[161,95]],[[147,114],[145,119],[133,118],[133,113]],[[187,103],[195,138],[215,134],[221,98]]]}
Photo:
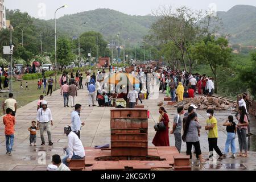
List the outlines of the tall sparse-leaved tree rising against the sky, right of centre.
{"label": "tall sparse-leaved tree rising against the sky, right of centre", "polygon": [[172,11],[171,7],[163,7],[155,12],[155,16],[158,20],[152,24],[149,38],[159,44],[173,42],[180,50],[185,71],[188,71],[188,62],[191,72],[194,61],[187,49],[208,34],[211,16],[204,19],[202,11],[192,11],[187,7],[177,8],[176,11]]}

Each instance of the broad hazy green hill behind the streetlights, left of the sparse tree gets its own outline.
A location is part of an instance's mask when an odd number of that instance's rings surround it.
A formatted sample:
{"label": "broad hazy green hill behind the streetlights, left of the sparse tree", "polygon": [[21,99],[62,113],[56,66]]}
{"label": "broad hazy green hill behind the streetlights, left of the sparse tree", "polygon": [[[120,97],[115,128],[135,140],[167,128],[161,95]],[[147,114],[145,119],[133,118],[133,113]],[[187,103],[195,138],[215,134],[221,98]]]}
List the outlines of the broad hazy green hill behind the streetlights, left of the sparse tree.
{"label": "broad hazy green hill behind the streetlights, left of the sparse tree", "polygon": [[[57,19],[57,29],[68,36],[78,35],[78,24],[87,22],[81,26],[81,32],[99,31],[106,38],[116,36],[120,32],[120,39],[131,38],[131,42],[141,41],[155,21],[154,16],[136,16],[120,13],[110,9],[96,9],[82,13],[64,15]],[[54,20],[47,23],[54,26]],[[103,28],[103,29],[102,29]]]}

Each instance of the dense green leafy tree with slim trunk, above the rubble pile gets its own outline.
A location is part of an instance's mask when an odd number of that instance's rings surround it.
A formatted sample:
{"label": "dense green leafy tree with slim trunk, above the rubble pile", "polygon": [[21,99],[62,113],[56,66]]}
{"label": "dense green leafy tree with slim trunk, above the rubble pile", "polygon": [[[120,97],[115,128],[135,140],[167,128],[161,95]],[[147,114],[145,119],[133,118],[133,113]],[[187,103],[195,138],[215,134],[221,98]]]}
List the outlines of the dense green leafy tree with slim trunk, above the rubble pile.
{"label": "dense green leafy tree with slim trunk, above the rubble pile", "polygon": [[199,63],[207,63],[214,75],[215,92],[217,93],[217,72],[219,67],[228,67],[232,60],[232,49],[228,47],[228,40],[225,38],[216,39],[214,36],[207,36],[204,40],[191,47],[193,59]]}

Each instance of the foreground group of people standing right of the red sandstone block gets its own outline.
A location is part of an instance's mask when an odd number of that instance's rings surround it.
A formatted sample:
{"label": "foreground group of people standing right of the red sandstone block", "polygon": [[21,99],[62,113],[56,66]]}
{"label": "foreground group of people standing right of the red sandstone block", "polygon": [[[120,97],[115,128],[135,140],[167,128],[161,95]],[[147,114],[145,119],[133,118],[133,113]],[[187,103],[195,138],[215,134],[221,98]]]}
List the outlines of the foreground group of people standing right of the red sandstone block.
{"label": "foreground group of people standing right of the red sandstone block", "polygon": [[[209,144],[209,158],[203,159],[201,155],[200,147],[200,129],[202,128],[197,118],[197,113],[195,111],[196,106],[192,105],[188,108],[188,113],[184,112],[183,106],[177,107],[177,114],[174,116],[173,125],[170,126],[170,119],[164,107],[159,108],[159,123],[162,122],[165,127],[159,127],[156,131],[155,137],[152,143],[155,146],[170,146],[169,142],[169,131],[170,134],[174,134],[175,147],[180,152],[182,141],[186,143],[187,155],[192,158],[192,146],[195,147],[195,152],[197,159],[204,163],[205,160],[213,160],[213,150],[216,151],[219,158],[217,160],[225,159],[229,152],[229,147],[231,148],[232,155],[230,158],[235,159],[235,156],[247,157],[247,139],[246,133],[249,128],[249,115],[246,112],[245,106],[238,107],[238,113],[236,114],[237,122],[234,121],[233,115],[229,115],[223,126],[226,126],[226,132],[228,133],[224,152],[222,153],[218,147],[218,122],[214,117],[214,110],[208,109],[206,112],[207,120],[205,121],[205,130],[208,131],[208,144]],[[181,118],[185,114],[184,118]],[[181,135],[181,130],[183,129],[183,134]],[[236,155],[236,134],[238,136],[238,143],[240,151]]]}

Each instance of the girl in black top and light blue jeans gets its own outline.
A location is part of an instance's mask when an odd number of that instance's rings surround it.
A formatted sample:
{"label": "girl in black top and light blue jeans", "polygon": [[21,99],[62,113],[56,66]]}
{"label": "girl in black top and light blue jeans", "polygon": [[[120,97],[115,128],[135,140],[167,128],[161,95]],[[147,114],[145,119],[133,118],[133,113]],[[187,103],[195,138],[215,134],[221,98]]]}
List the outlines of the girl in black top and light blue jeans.
{"label": "girl in black top and light blue jeans", "polygon": [[226,126],[226,131],[228,132],[228,138],[226,138],[224,158],[229,152],[229,146],[231,147],[232,156],[230,158],[235,159],[236,154],[236,123],[234,122],[234,118],[232,115],[229,115],[228,120],[224,122],[223,126]]}

